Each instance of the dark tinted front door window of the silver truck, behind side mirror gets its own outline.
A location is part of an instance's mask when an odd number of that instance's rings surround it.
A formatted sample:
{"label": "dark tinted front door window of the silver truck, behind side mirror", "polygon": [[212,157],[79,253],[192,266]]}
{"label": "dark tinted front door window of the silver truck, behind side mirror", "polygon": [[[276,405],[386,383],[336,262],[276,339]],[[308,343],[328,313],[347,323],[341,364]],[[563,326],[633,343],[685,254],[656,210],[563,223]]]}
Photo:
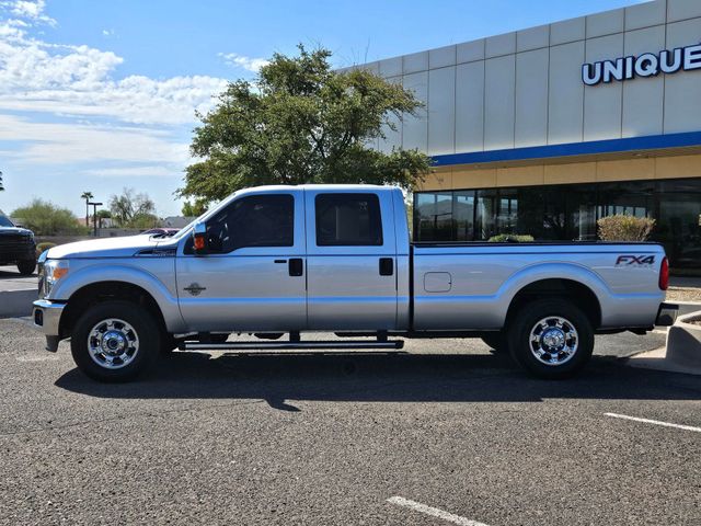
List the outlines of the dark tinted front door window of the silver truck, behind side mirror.
{"label": "dark tinted front door window of the silver truck, behind side mirror", "polygon": [[207,241],[214,253],[244,247],[292,247],[295,198],[273,194],[235,199],[207,221]]}

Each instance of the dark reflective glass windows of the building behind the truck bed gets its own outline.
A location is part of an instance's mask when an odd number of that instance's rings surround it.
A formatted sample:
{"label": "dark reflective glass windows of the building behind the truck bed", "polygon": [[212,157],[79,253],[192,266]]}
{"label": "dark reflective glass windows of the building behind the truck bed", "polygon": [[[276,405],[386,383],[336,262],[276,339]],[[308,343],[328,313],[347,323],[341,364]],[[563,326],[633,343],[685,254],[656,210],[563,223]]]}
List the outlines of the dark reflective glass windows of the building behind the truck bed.
{"label": "dark reflective glass windows of the building behind the truck bed", "polygon": [[701,179],[458,190],[414,194],[416,241],[485,241],[497,233],[593,241],[600,217],[656,220],[675,268],[701,273]]}

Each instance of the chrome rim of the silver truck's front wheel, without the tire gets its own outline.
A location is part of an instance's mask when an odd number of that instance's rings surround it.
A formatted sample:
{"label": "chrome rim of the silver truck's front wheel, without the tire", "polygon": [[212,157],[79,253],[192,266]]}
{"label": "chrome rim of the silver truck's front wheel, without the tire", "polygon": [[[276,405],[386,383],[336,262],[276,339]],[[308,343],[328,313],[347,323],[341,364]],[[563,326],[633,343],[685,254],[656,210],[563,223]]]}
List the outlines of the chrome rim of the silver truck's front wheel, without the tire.
{"label": "chrome rim of the silver truck's front wheel, without the tire", "polygon": [[90,357],[105,369],[129,365],[139,352],[139,336],[124,320],[110,318],[92,328],[88,335]]}

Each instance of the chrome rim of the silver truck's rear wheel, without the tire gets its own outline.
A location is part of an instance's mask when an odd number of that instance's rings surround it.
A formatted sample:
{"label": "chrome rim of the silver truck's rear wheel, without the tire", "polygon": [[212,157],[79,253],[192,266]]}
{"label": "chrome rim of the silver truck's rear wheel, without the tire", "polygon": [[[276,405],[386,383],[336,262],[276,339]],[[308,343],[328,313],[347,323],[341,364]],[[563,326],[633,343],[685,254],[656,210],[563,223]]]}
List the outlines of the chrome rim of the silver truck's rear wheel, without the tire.
{"label": "chrome rim of the silver truck's rear wheel, without the tire", "polygon": [[530,352],[545,365],[562,365],[576,354],[579,335],[574,324],[560,316],[549,316],[530,331]]}

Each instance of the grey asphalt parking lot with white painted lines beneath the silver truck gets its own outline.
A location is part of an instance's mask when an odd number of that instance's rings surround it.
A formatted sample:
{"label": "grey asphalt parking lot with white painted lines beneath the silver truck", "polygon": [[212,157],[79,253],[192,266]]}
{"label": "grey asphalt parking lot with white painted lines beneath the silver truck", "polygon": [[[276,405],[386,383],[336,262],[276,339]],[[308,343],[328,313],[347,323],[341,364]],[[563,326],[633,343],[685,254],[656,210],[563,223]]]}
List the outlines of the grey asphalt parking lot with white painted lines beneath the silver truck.
{"label": "grey asphalt parking lot with white painted lines beneath the silver truck", "polygon": [[447,340],[176,353],[101,385],[26,321],[0,331],[2,524],[701,522],[699,377],[618,358],[660,334],[602,338],[558,382]]}

